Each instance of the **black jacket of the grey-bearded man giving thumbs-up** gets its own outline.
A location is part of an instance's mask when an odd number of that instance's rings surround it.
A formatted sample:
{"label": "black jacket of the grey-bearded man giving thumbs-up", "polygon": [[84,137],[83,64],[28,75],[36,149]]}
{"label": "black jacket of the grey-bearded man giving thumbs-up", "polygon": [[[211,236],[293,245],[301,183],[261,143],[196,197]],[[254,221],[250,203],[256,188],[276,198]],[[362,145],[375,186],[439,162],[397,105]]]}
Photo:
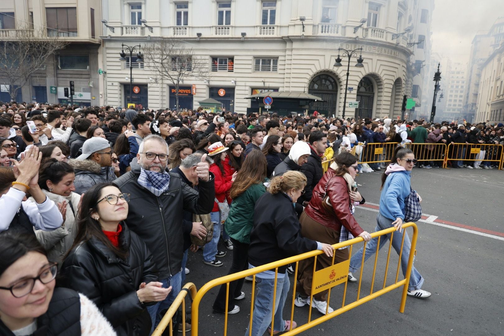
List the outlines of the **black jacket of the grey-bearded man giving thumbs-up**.
{"label": "black jacket of the grey-bearded man giving thumbs-up", "polygon": [[183,210],[193,214],[209,214],[214,207],[214,177],[198,183],[199,192],[170,173],[169,189],[157,197],[138,184],[140,165],[131,163],[131,171],[113,183],[122,192],[131,194],[126,222],[149,246],[159,270],[159,279],[180,272],[183,255]]}

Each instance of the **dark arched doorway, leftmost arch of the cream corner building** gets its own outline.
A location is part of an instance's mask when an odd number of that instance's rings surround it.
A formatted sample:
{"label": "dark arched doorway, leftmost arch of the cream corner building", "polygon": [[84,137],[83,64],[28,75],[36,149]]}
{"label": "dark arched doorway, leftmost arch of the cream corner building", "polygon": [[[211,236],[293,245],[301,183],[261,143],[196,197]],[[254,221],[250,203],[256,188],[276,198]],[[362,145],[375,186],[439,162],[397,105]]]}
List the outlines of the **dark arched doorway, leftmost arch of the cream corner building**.
{"label": "dark arched doorway, leftmost arch of the cream corner building", "polygon": [[316,101],[311,109],[324,113],[327,116],[336,115],[338,103],[338,83],[331,75],[322,74],[313,78],[308,86],[310,95],[321,97],[324,101]]}

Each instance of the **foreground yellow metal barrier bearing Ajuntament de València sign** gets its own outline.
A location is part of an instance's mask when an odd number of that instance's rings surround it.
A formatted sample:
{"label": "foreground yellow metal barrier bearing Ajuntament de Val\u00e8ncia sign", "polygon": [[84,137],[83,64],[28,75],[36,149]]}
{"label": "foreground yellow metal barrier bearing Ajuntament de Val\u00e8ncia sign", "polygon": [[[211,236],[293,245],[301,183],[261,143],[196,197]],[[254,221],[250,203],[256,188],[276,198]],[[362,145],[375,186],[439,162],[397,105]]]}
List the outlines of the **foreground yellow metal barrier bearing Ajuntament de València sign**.
{"label": "foreground yellow metal barrier bearing Ajuntament de Val\u00e8ncia sign", "polygon": [[[381,296],[385,293],[388,293],[388,292],[390,292],[396,288],[399,288],[401,286],[403,287],[403,293],[402,293],[402,297],[401,297],[401,304],[399,307],[399,311],[401,313],[404,312],[404,308],[406,305],[406,295],[407,295],[407,291],[408,291],[409,278],[410,278],[411,270],[412,270],[412,266],[413,266],[413,259],[416,254],[415,248],[416,248],[416,241],[417,241],[417,237],[418,237],[418,228],[417,228],[416,224],[415,223],[406,223],[403,225],[404,229],[406,229],[408,227],[413,228],[413,235],[411,237],[411,248],[410,248],[410,255],[408,258],[408,266],[407,266],[407,270],[406,270],[406,278],[405,279],[398,281],[399,269],[401,266],[401,255],[399,255],[399,261],[398,261],[398,265],[397,265],[395,282],[393,284],[387,286],[387,274],[388,274],[388,268],[389,268],[390,252],[392,249],[392,239],[393,239],[393,235],[395,232],[395,228],[392,227],[392,228],[389,228],[386,230],[371,233],[371,238],[378,237],[379,241],[378,241],[377,245],[380,245],[380,238],[382,236],[390,235],[390,237],[389,237],[390,238],[389,252],[388,252],[387,263],[386,263],[386,267],[385,267],[385,278],[384,278],[384,282],[383,282],[383,288],[378,291],[373,292],[374,279],[375,279],[375,273],[376,273],[376,262],[377,262],[377,258],[378,258],[378,254],[379,254],[379,250],[376,249],[376,256],[374,259],[373,275],[372,275],[372,281],[371,281],[371,290],[370,290],[369,295],[366,295],[366,296],[360,298],[362,272],[363,272],[363,268],[364,268],[364,254],[363,254],[362,255],[362,263],[361,263],[361,267],[360,267],[360,277],[359,277],[359,284],[358,284],[358,290],[357,290],[357,300],[355,300],[349,304],[345,304],[346,290],[347,290],[347,281],[345,280],[344,281],[345,287],[344,287],[344,294],[343,294],[343,301],[341,304],[341,308],[335,309],[332,313],[326,313],[325,315],[323,315],[319,318],[311,320],[311,308],[312,307],[310,304],[309,313],[308,313],[308,322],[305,324],[298,325],[297,328],[295,328],[295,329],[286,330],[286,332],[284,332],[283,335],[295,335],[295,334],[301,333],[309,328],[312,328],[316,325],[319,325],[322,322],[325,322],[333,317],[336,317],[346,311],[349,311],[357,306],[360,306],[361,304],[363,304],[365,302],[368,302],[376,297],[379,297],[379,296]],[[402,251],[402,247],[404,244],[404,237],[405,237],[405,235],[403,235],[403,240],[401,243],[401,251]],[[350,255],[351,255],[352,246],[354,244],[360,243],[362,241],[363,241],[363,239],[360,237],[354,238],[354,239],[351,239],[351,240],[348,240],[348,241],[345,241],[342,243],[334,244],[333,247],[337,250],[341,247],[349,246]],[[365,246],[366,246],[366,242],[364,242],[364,253],[365,253]],[[251,326],[251,323],[253,320],[253,314],[254,314],[254,294],[255,294],[255,288],[256,288],[256,275],[259,273],[265,272],[265,271],[275,270],[275,283],[276,283],[276,279],[278,276],[278,267],[288,265],[291,263],[295,263],[296,264],[295,278],[297,278],[298,262],[300,260],[314,257],[315,258],[314,264],[316,265],[317,264],[317,256],[322,253],[323,253],[322,251],[311,251],[311,252],[299,254],[299,255],[296,255],[296,256],[293,256],[290,258],[286,258],[286,259],[271,262],[271,263],[268,263],[268,264],[265,264],[262,266],[250,268],[249,270],[238,272],[235,274],[231,274],[231,275],[221,277],[218,279],[214,279],[214,280],[208,282],[198,291],[198,293],[196,294],[196,297],[194,298],[194,301],[193,301],[192,331],[191,331],[192,336],[198,336],[199,321],[200,321],[200,304],[203,300],[203,297],[211,289],[213,289],[217,286],[221,286],[223,284],[226,284],[226,307],[227,307],[228,306],[228,299],[229,299],[229,283],[232,281],[236,281],[238,279],[245,278],[245,277],[250,277],[250,276],[253,277],[252,294],[251,294],[251,298],[250,298],[251,304],[250,304],[250,319],[249,319],[249,326]],[[344,262],[348,262],[348,261],[344,261]],[[333,264],[334,264],[334,257],[333,257]],[[337,265],[339,265],[339,264],[337,264]],[[317,270],[315,268],[316,267],[314,266],[313,267],[313,275],[312,275],[313,277],[316,275],[315,272],[317,272]],[[348,272],[348,268],[346,268],[346,270],[344,272]],[[346,275],[346,273],[345,273],[345,275]],[[296,285],[297,285],[296,282],[294,282],[290,320],[293,320],[293,318],[294,318],[294,299],[295,299],[295,295],[296,295]],[[275,287],[276,287],[276,285],[275,285]],[[275,293],[274,295],[276,296],[276,288],[274,289],[274,293]],[[330,299],[331,299],[331,288],[329,288],[329,296],[328,296],[328,300],[327,300],[328,306],[330,304]],[[313,300],[313,287],[312,287],[312,293],[310,296],[310,302],[312,302],[311,300]],[[275,299],[273,300],[273,302],[275,302]],[[173,305],[175,305],[175,304],[176,304],[176,302],[173,303]],[[178,303],[178,304],[180,304],[180,303]],[[178,305],[177,305],[177,307],[178,307]],[[171,310],[171,308],[172,307],[170,307],[170,310]],[[176,310],[176,308],[175,308],[175,310]],[[274,311],[274,309],[273,309],[273,311]],[[164,320],[165,320],[165,318],[163,318],[163,321]],[[226,311],[224,314],[224,328],[223,328],[223,335],[224,336],[227,335],[227,320],[228,320],[228,314],[227,314],[227,308],[226,308]],[[215,320],[213,320],[212,323],[215,323]],[[271,335],[273,335],[273,330],[274,330],[274,326],[272,325]],[[251,333],[251,328],[250,328],[250,333]],[[155,334],[155,336],[158,336],[158,335],[159,334]]]}

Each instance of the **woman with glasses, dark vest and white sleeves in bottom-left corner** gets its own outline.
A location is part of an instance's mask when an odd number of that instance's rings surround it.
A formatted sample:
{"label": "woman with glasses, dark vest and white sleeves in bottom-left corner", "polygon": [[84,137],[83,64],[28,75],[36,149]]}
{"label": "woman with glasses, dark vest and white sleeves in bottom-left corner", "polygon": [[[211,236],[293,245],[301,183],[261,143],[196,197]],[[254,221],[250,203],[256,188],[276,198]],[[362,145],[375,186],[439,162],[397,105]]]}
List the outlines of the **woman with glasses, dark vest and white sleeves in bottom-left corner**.
{"label": "woman with glasses, dark vest and white sleeves in bottom-left corner", "polygon": [[57,266],[34,235],[0,233],[0,334],[115,335],[83,294],[54,288]]}

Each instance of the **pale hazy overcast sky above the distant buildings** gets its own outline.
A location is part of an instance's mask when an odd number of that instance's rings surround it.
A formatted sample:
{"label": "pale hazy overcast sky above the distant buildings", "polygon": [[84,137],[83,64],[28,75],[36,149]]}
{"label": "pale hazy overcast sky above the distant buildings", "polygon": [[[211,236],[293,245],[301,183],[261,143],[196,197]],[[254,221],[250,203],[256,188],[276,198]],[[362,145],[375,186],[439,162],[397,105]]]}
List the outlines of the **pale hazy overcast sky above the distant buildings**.
{"label": "pale hazy overcast sky above the distant buildings", "polygon": [[432,52],[453,61],[469,61],[471,41],[504,16],[502,0],[435,0],[432,13]]}

